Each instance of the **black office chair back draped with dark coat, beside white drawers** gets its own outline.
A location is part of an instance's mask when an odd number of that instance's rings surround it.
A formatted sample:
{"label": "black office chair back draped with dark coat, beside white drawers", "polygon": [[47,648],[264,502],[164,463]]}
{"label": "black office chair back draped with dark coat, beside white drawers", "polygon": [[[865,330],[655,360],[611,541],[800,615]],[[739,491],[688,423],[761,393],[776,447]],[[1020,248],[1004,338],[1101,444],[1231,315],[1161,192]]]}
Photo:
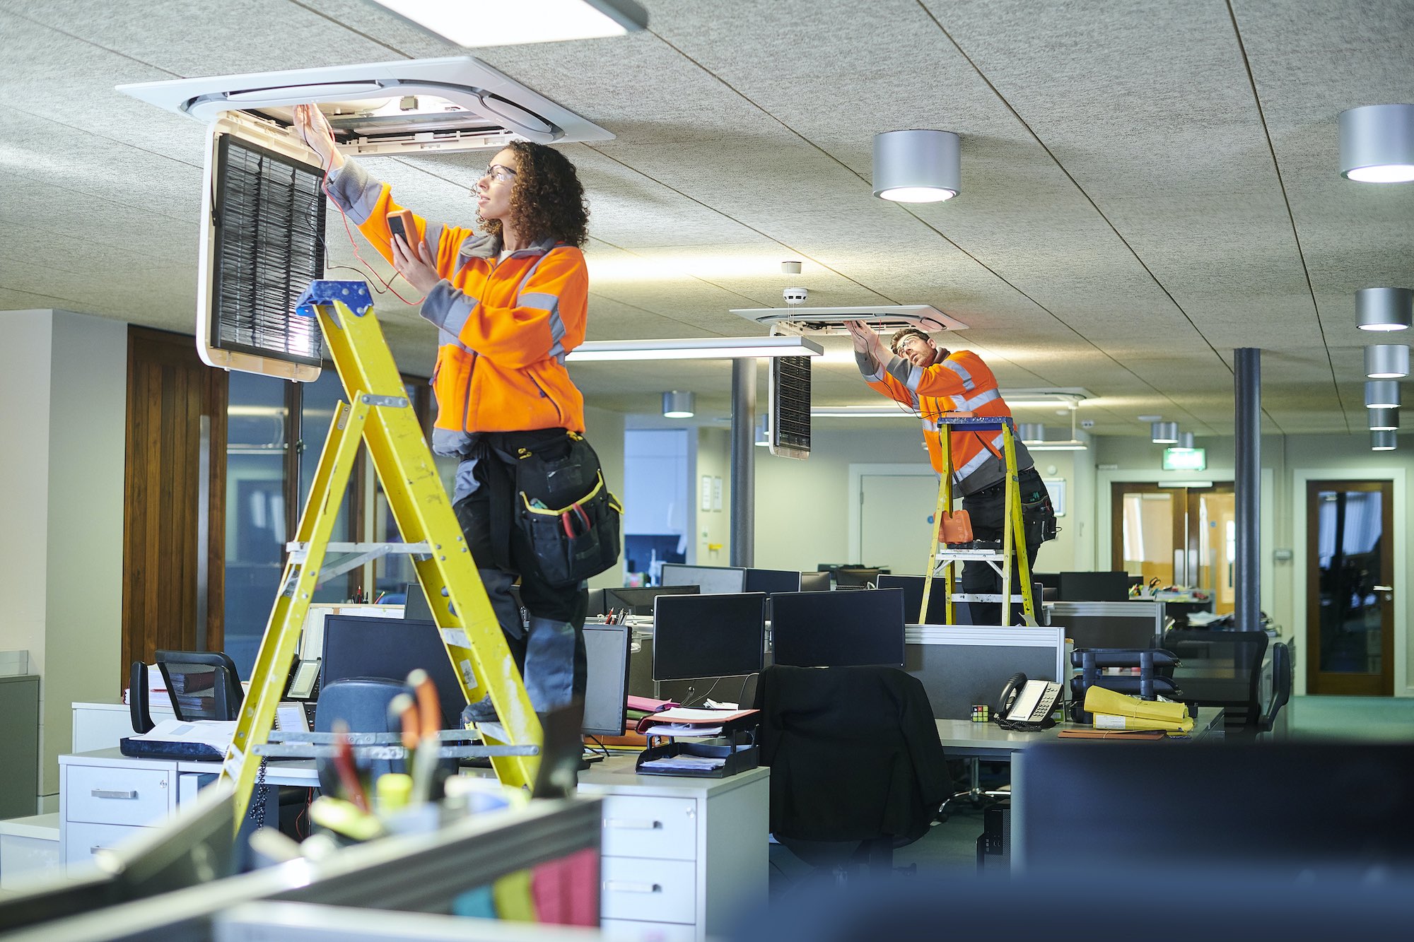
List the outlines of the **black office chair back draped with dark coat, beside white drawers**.
{"label": "black office chair back draped with dark coat, beside white drawers", "polygon": [[772,665],[756,689],[771,833],[816,867],[892,870],[928,833],[952,778],[928,693],[896,668]]}

